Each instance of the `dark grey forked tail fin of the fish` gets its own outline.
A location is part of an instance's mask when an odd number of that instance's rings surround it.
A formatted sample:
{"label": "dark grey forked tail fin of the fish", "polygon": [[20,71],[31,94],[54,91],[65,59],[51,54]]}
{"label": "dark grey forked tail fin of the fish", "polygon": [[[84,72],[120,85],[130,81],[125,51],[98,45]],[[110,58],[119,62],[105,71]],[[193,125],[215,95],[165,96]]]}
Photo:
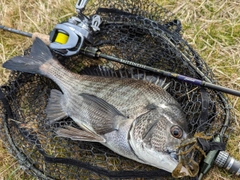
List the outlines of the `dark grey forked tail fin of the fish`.
{"label": "dark grey forked tail fin of the fish", "polygon": [[52,59],[52,53],[44,42],[36,38],[30,56],[16,56],[3,64],[4,68],[32,74],[42,74],[40,66]]}

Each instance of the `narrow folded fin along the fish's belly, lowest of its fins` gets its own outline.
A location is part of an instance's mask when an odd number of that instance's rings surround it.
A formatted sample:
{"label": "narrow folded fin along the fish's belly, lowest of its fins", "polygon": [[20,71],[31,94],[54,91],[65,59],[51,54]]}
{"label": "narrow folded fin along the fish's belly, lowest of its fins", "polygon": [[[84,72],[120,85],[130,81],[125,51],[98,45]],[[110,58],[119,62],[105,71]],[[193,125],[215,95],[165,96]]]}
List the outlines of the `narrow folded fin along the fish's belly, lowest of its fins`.
{"label": "narrow folded fin along the fish's belly, lowest of its fins", "polygon": [[66,128],[59,128],[56,131],[57,136],[66,137],[72,140],[78,141],[89,141],[89,142],[105,142],[106,140],[98,134],[83,131],[71,126],[67,126]]}

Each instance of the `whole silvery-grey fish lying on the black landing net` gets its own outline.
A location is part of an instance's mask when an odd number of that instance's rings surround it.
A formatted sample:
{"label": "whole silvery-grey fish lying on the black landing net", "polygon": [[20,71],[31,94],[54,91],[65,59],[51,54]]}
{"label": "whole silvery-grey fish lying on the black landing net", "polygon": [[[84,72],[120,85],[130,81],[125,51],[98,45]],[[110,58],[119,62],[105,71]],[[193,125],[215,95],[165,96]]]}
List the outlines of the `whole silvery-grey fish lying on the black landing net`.
{"label": "whole silvery-grey fish lying on the black landing net", "polygon": [[[70,117],[78,126],[60,127],[56,135],[98,142],[137,162],[172,173],[177,149],[188,138],[186,117],[179,103],[148,81],[80,75],[66,69],[44,42],[36,38],[28,56],[6,61],[4,68],[39,74],[54,81],[46,105],[50,124]],[[184,176],[188,170],[180,170]]]}

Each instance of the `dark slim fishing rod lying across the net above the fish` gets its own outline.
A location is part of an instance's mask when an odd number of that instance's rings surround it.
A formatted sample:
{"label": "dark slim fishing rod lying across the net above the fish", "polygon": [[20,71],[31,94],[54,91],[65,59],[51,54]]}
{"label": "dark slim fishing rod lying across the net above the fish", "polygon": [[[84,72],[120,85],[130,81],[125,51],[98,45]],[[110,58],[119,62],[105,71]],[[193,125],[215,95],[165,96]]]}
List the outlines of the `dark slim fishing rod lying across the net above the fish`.
{"label": "dark slim fishing rod lying across the net above the fish", "polygon": [[[9,32],[12,32],[12,33],[16,33],[16,34],[19,34],[19,35],[23,35],[23,36],[26,36],[26,37],[30,37],[33,40],[36,37],[39,37],[47,45],[50,45],[50,49],[55,50],[55,52],[59,53],[58,50],[56,50],[54,48],[51,48],[51,45],[53,45],[53,44],[56,45],[56,42],[51,42],[49,40],[49,39],[51,39],[51,37],[49,37],[48,35],[40,34],[40,33],[37,33],[37,32],[31,34],[31,33],[19,31],[19,30],[13,29],[13,28],[8,28],[8,27],[2,26],[2,25],[0,25],[0,29],[6,30],[6,31],[9,31]],[[63,36],[63,35],[61,34],[61,36]],[[59,41],[59,40],[57,40],[57,41]],[[58,43],[58,46],[61,46],[60,43]],[[64,47],[64,44],[62,44],[62,46]],[[213,90],[216,90],[216,91],[221,91],[221,92],[224,92],[224,93],[227,93],[227,94],[232,94],[232,95],[240,97],[240,91],[237,91],[237,90],[234,90],[234,89],[230,89],[230,88],[223,87],[223,86],[220,86],[220,85],[216,85],[216,84],[213,84],[213,83],[210,83],[210,82],[206,82],[206,81],[199,80],[199,79],[196,79],[196,78],[188,77],[188,76],[185,76],[185,75],[172,73],[172,72],[161,70],[161,69],[158,69],[158,68],[154,68],[154,67],[146,66],[146,65],[143,65],[143,64],[135,63],[135,62],[128,61],[128,60],[121,59],[121,58],[117,58],[117,57],[114,57],[114,56],[109,56],[107,54],[101,53],[101,51],[96,49],[96,48],[92,48],[92,47],[82,48],[81,47],[79,49],[80,49],[79,52],[81,52],[85,55],[88,55],[88,56],[92,56],[92,57],[96,57],[96,58],[104,58],[104,59],[107,59],[107,60],[111,60],[111,61],[115,61],[115,62],[118,62],[118,63],[125,64],[125,65],[133,66],[133,67],[136,67],[136,68],[145,69],[145,70],[148,70],[148,71],[151,71],[151,72],[154,72],[154,73],[166,76],[166,77],[175,78],[175,79],[178,79],[180,81],[191,83],[191,84],[194,84],[194,85],[197,85],[197,86],[210,88],[210,89],[213,89]],[[67,51],[67,49],[64,49],[64,48],[61,48],[61,50],[62,51],[60,51],[60,52]]]}

